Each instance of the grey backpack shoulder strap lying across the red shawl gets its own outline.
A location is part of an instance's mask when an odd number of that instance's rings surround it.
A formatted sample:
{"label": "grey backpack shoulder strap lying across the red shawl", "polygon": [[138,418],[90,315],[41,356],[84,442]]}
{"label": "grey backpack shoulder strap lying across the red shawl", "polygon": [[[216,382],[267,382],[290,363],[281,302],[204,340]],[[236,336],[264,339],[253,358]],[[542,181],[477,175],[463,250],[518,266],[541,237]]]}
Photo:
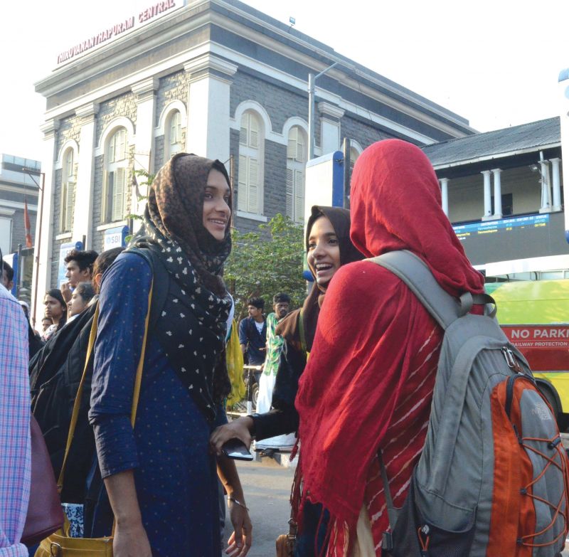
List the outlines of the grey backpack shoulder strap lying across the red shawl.
{"label": "grey backpack shoulder strap lying across the red shawl", "polygon": [[445,292],[425,262],[409,250],[390,251],[367,261],[385,267],[403,280],[442,329],[447,329],[456,319],[466,315],[472,304],[494,304],[494,308],[491,311],[486,309],[485,314],[489,317],[496,314],[496,302],[487,294],[464,292],[460,298],[454,298]]}

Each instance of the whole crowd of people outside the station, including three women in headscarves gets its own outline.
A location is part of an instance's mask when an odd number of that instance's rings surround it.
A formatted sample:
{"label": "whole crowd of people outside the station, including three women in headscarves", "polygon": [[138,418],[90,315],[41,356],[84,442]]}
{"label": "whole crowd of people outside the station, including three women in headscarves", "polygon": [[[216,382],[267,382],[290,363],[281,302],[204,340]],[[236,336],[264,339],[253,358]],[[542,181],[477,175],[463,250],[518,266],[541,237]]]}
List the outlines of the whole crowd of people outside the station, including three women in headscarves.
{"label": "whole crowd of people outside the station, including three women in headscarves", "polygon": [[[0,354],[14,346],[2,363],[1,400],[9,388],[14,404],[29,404],[28,369],[58,476],[85,371],[61,497],[70,515],[80,510],[77,535],[114,531],[115,557],[219,556],[219,482],[233,525],[228,554],[248,553],[245,494],[222,450],[233,438],[298,452],[296,557],[381,556],[389,525],[378,449],[400,506],[425,442],[442,329],[402,280],[365,259],[410,250],[455,297],[482,292],[484,279],[442,211],[425,154],[399,140],[371,145],[353,171],[351,210],[312,207],[305,247],[314,286],[302,308],[291,311],[280,292],[265,317],[263,299],[248,299],[238,336],[258,368],[260,397],[257,413],[228,423],[233,299],[223,263],[232,206],[220,161],[176,154],[156,174],[126,250],[69,253],[68,282],[43,299],[41,335],[0,288],[0,316],[14,324],[0,336]],[[4,266],[4,286],[10,280]],[[32,337],[43,344],[35,354]],[[29,490],[21,405],[10,423],[0,415],[0,435],[15,441],[4,445],[0,472],[22,462],[11,483],[0,481],[0,497],[9,491],[20,502],[0,517],[0,556],[28,554],[17,550]]]}

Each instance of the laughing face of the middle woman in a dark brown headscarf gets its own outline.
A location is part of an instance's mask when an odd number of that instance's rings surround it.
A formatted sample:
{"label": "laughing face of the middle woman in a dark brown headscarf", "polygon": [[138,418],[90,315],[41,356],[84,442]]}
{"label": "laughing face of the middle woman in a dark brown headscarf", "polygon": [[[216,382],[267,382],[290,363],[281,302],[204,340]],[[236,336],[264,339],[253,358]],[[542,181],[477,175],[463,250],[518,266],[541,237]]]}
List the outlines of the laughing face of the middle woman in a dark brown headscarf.
{"label": "laughing face of the middle woman in a dark brown headscarf", "polygon": [[308,237],[307,260],[319,286],[327,286],[340,268],[340,244],[329,218],[314,221]]}

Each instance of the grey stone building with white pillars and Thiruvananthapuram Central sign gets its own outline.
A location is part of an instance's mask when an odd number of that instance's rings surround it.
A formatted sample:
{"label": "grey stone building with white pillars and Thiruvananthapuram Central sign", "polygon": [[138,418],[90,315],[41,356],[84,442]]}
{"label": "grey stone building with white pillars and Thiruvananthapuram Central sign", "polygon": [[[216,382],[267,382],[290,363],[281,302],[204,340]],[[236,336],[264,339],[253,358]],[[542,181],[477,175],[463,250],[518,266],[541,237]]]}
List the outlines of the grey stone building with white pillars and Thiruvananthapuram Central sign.
{"label": "grey stone building with white pillars and Thiruvananthapuram Central sign", "polygon": [[308,76],[334,63],[316,82],[315,156],[344,138],[353,160],[378,139],[427,145],[474,133],[463,117],[238,0],[165,0],[113,17],[54,53],[55,70],[36,83],[46,97],[40,292],[58,284],[62,246],[122,242],[144,193],[134,171],[152,174],[176,152],[226,164],[239,230],[276,213],[302,221]]}

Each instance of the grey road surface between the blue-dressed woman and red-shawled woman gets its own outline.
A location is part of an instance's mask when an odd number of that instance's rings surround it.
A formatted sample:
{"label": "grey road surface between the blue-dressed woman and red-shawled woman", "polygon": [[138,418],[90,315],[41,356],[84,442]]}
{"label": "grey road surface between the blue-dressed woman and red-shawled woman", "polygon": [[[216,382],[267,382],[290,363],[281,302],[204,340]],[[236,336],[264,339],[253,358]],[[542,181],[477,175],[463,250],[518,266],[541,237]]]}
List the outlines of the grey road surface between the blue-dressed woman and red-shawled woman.
{"label": "grey road surface between the blue-dressed woman and red-shawled woman", "polygon": [[[288,532],[294,468],[283,467],[272,458],[263,458],[260,462],[235,462],[253,524],[253,543],[248,557],[274,557],[275,540]],[[231,523],[226,519],[225,539],[232,531]]]}

